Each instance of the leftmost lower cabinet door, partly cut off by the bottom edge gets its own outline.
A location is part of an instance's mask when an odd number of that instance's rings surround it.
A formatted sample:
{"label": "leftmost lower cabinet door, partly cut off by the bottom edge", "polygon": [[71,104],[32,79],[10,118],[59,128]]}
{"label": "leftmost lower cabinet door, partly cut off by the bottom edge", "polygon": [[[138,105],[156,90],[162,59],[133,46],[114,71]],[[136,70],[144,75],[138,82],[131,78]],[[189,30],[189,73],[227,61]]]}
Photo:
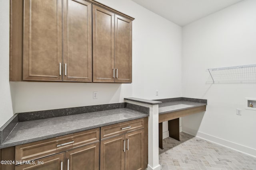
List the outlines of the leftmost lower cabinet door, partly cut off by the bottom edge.
{"label": "leftmost lower cabinet door, partly cut off by the bottom edge", "polygon": [[15,170],[64,170],[64,152],[34,161],[35,164],[21,164]]}

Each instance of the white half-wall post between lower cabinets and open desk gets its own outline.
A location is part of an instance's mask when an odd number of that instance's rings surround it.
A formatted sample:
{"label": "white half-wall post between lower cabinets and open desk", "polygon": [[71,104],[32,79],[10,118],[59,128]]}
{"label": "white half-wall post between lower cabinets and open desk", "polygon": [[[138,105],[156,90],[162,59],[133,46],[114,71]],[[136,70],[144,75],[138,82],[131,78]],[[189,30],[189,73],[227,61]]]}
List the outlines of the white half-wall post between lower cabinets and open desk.
{"label": "white half-wall post between lower cabinets and open desk", "polygon": [[150,105],[130,100],[124,102],[149,107],[148,117],[148,168],[147,170],[160,170],[158,145],[158,104]]}

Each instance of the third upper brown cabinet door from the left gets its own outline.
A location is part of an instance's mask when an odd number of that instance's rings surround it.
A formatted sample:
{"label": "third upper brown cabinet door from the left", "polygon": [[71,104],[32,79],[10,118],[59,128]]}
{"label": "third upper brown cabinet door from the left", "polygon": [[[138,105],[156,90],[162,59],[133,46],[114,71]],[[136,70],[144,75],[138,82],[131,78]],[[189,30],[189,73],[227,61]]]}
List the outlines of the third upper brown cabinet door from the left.
{"label": "third upper brown cabinet door from the left", "polygon": [[114,13],[92,5],[93,82],[114,82]]}

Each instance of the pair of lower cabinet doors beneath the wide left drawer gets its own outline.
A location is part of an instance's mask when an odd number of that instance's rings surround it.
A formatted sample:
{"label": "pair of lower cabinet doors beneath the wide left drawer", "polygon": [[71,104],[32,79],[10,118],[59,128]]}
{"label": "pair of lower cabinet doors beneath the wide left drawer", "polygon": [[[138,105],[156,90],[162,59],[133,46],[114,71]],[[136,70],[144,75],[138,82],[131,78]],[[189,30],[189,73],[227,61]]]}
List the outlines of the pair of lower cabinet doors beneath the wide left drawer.
{"label": "pair of lower cabinet doors beneath the wide left drawer", "polygon": [[16,170],[98,170],[99,142],[17,165]]}

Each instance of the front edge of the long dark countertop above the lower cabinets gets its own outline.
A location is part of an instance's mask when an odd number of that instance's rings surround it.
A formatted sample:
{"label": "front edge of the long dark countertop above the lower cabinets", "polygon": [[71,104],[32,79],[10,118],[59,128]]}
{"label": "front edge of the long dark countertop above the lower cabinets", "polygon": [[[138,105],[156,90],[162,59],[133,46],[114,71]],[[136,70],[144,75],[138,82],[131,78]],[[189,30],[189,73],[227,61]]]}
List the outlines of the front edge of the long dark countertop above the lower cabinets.
{"label": "front edge of the long dark countertop above the lower cabinets", "polygon": [[118,121],[112,121],[112,122],[102,123],[102,124],[98,124],[98,125],[88,126],[88,127],[84,127],[84,128],[80,128],[80,129],[75,129],[75,130],[72,130],[72,131],[65,131],[65,132],[61,132],[61,133],[46,135],[46,136],[42,136],[42,137],[36,137],[36,138],[17,141],[17,142],[12,142],[12,143],[2,143],[0,145],[0,149],[7,148],[7,147],[13,147],[13,146],[16,146],[16,145],[22,145],[22,144],[26,144],[26,143],[31,143],[31,142],[36,142],[36,141],[41,141],[41,140],[45,140],[45,139],[50,139],[50,138],[54,138],[54,137],[60,137],[60,136],[63,136],[63,135],[68,135],[68,134],[72,134],[72,133],[76,133],[76,132],[80,132],[80,131],[86,131],[86,130],[89,130],[89,129],[95,129],[95,128],[98,128],[98,127],[113,125],[113,124],[116,124],[116,123],[122,123],[122,122],[125,122],[125,121],[140,119],[140,118],[144,118],[144,117],[149,116],[146,113],[142,113],[142,114],[143,115],[128,118],[128,119],[122,119],[122,120],[118,120]]}

